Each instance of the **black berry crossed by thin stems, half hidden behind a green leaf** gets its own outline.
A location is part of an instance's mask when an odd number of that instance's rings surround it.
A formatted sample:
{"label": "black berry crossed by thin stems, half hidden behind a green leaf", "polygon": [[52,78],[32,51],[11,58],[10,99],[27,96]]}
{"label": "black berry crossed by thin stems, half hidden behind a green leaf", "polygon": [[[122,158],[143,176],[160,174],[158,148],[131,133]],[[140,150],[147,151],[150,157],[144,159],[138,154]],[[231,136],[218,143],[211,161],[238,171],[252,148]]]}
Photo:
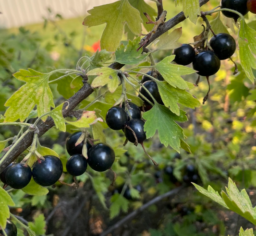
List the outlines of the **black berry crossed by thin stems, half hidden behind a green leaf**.
{"label": "black berry crossed by thin stems, half hidden behind a green leaf", "polygon": [[[158,92],[158,85],[155,81],[146,81],[145,83],[143,83],[143,86],[145,86],[145,88],[149,91],[150,94],[153,95],[153,97],[156,99],[156,101],[159,104],[163,105],[163,101],[162,101],[161,96]],[[150,102],[154,103],[151,96],[147,93],[147,91],[142,86],[140,87],[139,92],[141,94],[143,94]],[[146,102],[145,99],[143,99],[142,97],[141,97],[141,99],[145,102],[145,104],[148,104],[148,102]]]}

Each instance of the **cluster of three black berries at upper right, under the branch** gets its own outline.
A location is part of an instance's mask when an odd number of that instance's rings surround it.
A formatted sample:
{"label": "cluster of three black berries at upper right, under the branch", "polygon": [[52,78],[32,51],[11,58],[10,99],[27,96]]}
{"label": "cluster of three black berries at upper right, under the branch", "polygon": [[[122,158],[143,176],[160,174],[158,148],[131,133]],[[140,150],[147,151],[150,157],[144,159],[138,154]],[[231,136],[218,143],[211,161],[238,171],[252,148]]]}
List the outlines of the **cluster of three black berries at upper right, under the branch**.
{"label": "cluster of three black berries at upper right, under the branch", "polygon": [[230,58],[236,49],[234,38],[225,33],[214,35],[209,41],[211,50],[203,50],[195,55],[195,48],[189,44],[183,44],[174,49],[174,61],[180,65],[193,63],[193,68],[197,74],[210,76],[219,71],[220,60]]}

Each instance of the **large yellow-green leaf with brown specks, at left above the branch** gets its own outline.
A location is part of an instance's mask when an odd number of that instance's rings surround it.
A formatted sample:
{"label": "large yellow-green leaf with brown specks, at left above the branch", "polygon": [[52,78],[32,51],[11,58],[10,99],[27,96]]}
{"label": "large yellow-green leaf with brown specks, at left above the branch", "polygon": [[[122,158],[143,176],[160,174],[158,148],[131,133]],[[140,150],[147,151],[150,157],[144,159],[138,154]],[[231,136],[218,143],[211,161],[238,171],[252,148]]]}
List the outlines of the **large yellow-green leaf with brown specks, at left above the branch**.
{"label": "large yellow-green leaf with brown specks, at left above the branch", "polygon": [[[13,122],[17,119],[20,119],[21,122],[24,121],[36,105],[38,116],[49,112],[50,107],[55,107],[48,84],[50,73],[28,69],[28,71],[20,70],[13,76],[26,84],[12,94],[5,103],[4,106],[9,106],[4,114],[5,122]],[[43,120],[45,121],[46,118]]]}

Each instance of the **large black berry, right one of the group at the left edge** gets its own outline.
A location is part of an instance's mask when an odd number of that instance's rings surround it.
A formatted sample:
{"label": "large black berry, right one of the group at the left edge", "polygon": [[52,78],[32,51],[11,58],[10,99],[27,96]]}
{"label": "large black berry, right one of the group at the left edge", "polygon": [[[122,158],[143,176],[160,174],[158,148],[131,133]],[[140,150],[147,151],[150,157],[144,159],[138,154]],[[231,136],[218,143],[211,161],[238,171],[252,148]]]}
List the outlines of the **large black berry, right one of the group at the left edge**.
{"label": "large black berry, right one of the group at the left edge", "polygon": [[41,186],[55,184],[61,177],[63,166],[57,156],[46,155],[45,160],[37,160],[33,165],[32,175],[35,182]]}

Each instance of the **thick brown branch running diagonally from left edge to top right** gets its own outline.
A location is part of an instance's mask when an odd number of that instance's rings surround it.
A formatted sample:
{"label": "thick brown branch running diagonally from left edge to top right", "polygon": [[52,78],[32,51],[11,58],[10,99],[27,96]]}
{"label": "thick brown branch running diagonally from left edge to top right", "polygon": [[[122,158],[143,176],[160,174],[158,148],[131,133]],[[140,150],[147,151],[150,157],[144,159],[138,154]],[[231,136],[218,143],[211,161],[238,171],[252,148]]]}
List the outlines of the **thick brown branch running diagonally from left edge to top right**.
{"label": "thick brown branch running diagonally from left edge to top right", "polygon": [[[206,4],[209,0],[199,0],[200,6]],[[169,21],[167,21],[165,24],[163,24],[162,27],[159,27],[156,34],[152,35],[150,37],[150,40],[143,46],[144,48],[148,46],[150,43],[152,43],[156,38],[158,38],[160,35],[164,34],[166,31],[174,27],[175,25],[179,24],[180,22],[184,21],[186,18],[184,16],[183,12],[180,12],[173,18],[171,18]],[[110,65],[110,68],[119,70],[123,67],[123,64],[120,64],[118,62],[114,62]],[[90,87],[89,84],[85,83],[84,86],[71,98],[68,99],[69,106],[68,109],[65,109],[63,107],[63,116],[67,117],[69,116],[70,112],[79,104],[81,103],[86,97],[88,97],[90,94],[93,93],[93,89]],[[66,103],[67,104],[67,103]],[[51,129],[54,126],[54,122],[52,118],[47,118],[46,122],[42,122],[38,125],[39,134],[38,137],[42,136],[44,133],[46,133],[49,129]],[[5,158],[4,162],[0,165],[0,172],[9,165],[12,161],[14,161],[21,153],[23,153],[32,143],[33,141],[33,132],[29,132],[23,139],[22,142],[20,142],[17,147],[9,153],[8,156],[3,155],[2,158]]]}

